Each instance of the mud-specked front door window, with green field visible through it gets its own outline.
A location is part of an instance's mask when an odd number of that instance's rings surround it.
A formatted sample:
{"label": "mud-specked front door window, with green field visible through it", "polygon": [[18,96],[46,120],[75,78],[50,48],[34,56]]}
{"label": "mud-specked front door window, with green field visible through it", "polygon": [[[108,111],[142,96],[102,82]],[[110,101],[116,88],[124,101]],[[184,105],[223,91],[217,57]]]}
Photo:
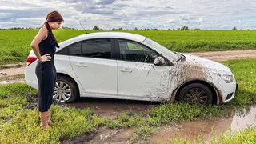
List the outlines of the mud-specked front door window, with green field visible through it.
{"label": "mud-specked front door window, with green field visible through it", "polygon": [[118,40],[121,59],[132,62],[153,63],[158,54],[138,42]]}

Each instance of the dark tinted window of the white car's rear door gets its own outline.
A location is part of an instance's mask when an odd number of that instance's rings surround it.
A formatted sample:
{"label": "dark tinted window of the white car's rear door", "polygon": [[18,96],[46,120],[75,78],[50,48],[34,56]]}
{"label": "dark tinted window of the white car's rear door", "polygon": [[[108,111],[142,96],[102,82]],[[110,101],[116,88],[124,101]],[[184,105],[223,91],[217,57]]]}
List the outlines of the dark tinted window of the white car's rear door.
{"label": "dark tinted window of the white car's rear door", "polygon": [[82,56],[111,58],[111,38],[92,39],[82,42]]}

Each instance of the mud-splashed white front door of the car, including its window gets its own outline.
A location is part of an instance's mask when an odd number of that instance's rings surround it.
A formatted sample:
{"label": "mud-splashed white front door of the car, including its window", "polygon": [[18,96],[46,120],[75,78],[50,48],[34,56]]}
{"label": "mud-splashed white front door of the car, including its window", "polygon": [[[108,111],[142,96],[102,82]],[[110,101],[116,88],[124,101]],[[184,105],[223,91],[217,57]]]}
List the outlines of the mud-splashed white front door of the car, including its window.
{"label": "mud-splashed white front door of the car, including its window", "polygon": [[118,39],[118,95],[141,99],[169,98],[170,66],[155,66],[159,54],[139,42]]}

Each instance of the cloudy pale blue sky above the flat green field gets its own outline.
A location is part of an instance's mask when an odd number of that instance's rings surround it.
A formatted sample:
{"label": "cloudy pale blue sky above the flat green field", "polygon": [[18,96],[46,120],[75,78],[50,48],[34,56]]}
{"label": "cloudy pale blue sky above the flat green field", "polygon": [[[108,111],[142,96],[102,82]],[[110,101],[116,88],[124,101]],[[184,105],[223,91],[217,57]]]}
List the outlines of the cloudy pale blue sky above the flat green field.
{"label": "cloudy pale blue sky above the flat green field", "polygon": [[0,0],[0,28],[42,26],[52,10],[86,30],[256,30],[256,0]]}

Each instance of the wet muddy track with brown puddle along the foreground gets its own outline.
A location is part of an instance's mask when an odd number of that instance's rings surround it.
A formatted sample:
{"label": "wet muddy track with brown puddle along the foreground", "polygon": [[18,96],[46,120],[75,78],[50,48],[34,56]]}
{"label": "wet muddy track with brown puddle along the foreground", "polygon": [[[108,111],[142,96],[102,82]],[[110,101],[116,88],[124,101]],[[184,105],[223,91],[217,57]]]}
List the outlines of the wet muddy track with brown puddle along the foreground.
{"label": "wet muddy track with brown puddle along the foreground", "polygon": [[[168,142],[170,138],[186,138],[191,141],[202,138],[209,141],[213,136],[224,132],[235,132],[247,126],[256,125],[256,107],[250,110],[233,111],[234,116],[213,117],[192,122],[180,122],[175,126],[163,125],[147,140],[134,143]],[[133,129],[109,129],[106,126],[94,133],[84,134],[77,138],[65,140],[62,143],[131,143]]]}

